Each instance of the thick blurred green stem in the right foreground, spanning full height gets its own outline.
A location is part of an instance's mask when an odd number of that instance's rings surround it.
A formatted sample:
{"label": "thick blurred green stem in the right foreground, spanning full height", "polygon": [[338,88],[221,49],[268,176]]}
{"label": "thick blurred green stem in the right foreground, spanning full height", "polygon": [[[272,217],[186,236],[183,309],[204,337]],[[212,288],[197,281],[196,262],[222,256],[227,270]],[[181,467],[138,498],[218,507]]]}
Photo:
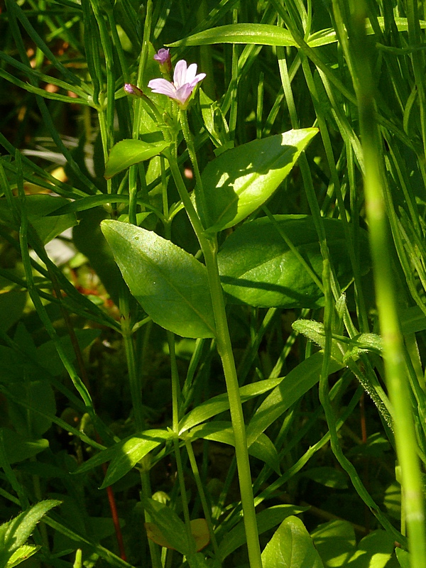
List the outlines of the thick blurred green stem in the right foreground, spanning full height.
{"label": "thick blurred green stem in the right foreground, spanning full height", "polygon": [[394,409],[395,444],[401,467],[403,503],[410,542],[410,562],[416,568],[426,567],[425,512],[417,440],[413,423],[408,381],[404,366],[403,336],[398,320],[398,301],[391,263],[386,204],[383,197],[383,148],[376,122],[374,98],[376,80],[368,53],[364,2],[354,4],[351,19],[355,74],[354,87],[359,106],[359,123],[364,155],[364,191],[370,231],[371,256],[383,338],[386,385]]}

